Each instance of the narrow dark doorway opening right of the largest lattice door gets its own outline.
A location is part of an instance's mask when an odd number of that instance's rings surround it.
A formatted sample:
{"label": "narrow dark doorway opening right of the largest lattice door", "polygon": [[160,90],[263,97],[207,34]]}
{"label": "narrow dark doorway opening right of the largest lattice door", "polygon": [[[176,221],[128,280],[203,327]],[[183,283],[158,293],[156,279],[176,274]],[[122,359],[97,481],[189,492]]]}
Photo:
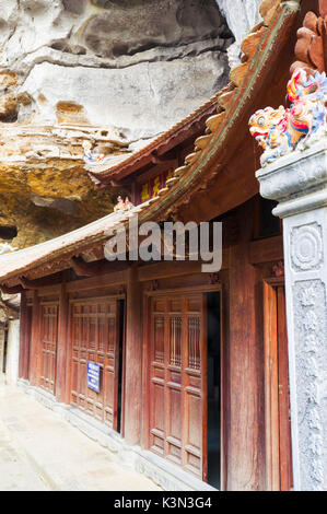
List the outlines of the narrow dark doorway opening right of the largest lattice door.
{"label": "narrow dark doorway opening right of the largest lattice door", "polygon": [[208,483],[221,489],[221,293],[207,294]]}

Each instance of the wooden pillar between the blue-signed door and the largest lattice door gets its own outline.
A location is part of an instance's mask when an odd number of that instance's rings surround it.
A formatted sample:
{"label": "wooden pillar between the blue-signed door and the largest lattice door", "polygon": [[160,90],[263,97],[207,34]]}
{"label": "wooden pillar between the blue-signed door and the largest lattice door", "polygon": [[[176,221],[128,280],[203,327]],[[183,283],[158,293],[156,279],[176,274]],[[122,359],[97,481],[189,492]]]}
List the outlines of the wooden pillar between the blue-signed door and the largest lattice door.
{"label": "wooden pillar between the blue-signed door and the largest lattice door", "polygon": [[128,270],[126,305],[125,439],[140,443],[142,392],[142,292],[138,268]]}

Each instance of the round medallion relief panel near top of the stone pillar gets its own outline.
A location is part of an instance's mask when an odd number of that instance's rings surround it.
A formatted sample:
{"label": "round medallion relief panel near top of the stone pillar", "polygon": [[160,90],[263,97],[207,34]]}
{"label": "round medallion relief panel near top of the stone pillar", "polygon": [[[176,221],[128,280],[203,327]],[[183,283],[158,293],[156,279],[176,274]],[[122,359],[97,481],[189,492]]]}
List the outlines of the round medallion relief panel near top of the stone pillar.
{"label": "round medallion relief panel near top of the stone pillar", "polygon": [[323,230],[318,223],[291,232],[291,265],[294,271],[319,269],[324,262]]}

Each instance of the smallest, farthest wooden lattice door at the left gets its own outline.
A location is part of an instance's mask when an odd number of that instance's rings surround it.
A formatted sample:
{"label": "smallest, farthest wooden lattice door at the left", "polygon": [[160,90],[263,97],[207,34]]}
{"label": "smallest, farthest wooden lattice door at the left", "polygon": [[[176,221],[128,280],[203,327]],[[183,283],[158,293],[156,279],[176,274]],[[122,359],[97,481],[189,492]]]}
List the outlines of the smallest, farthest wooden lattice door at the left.
{"label": "smallest, farthest wooden lattice door at the left", "polygon": [[44,303],[40,323],[40,387],[55,394],[58,339],[58,303]]}

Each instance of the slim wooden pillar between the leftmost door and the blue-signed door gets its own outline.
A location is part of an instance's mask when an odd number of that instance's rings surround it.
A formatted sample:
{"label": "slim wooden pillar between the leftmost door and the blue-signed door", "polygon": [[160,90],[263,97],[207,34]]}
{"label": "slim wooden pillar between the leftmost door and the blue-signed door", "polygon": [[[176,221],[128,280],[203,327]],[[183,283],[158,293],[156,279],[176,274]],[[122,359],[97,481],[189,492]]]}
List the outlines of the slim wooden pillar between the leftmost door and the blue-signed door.
{"label": "slim wooden pillar between the leftmost door and the blue-signed door", "polygon": [[56,398],[62,404],[69,404],[69,302],[66,291],[66,283],[61,284],[59,293],[59,315],[58,315],[58,340],[57,340],[57,375],[56,375]]}

